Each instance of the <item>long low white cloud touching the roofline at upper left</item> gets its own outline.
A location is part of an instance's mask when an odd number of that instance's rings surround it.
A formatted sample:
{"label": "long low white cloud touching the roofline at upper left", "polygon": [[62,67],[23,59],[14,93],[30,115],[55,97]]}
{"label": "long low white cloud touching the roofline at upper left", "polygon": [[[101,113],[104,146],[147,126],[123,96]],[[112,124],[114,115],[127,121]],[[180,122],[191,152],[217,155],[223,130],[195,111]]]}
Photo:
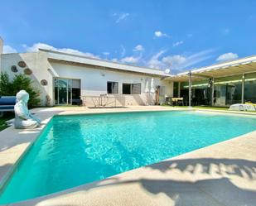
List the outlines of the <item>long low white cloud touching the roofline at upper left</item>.
{"label": "long low white cloud touching the roofline at upper left", "polygon": [[70,48],[60,48],[60,49],[58,49],[54,46],[50,46],[50,45],[40,43],[40,42],[33,44],[33,46],[23,45],[23,47],[25,48],[25,50],[27,50],[27,52],[36,52],[36,51],[38,51],[38,49],[56,50],[56,51],[60,51],[60,52],[69,53],[69,54],[72,54],[72,55],[84,55],[84,56],[89,57],[89,58],[100,59],[99,55],[94,55],[94,54],[89,53],[89,52],[82,52],[80,50],[73,50],[73,49],[70,49]]}

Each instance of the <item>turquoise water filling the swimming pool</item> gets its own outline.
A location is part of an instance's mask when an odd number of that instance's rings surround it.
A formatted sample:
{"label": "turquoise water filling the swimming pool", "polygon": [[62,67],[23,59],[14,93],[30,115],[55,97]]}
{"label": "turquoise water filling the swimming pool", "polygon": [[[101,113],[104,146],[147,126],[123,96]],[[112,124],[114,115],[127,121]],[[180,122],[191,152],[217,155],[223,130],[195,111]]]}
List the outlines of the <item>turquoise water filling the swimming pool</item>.
{"label": "turquoise water filling the swimming pool", "polygon": [[57,116],[22,158],[0,204],[102,180],[256,130],[256,118],[196,112]]}

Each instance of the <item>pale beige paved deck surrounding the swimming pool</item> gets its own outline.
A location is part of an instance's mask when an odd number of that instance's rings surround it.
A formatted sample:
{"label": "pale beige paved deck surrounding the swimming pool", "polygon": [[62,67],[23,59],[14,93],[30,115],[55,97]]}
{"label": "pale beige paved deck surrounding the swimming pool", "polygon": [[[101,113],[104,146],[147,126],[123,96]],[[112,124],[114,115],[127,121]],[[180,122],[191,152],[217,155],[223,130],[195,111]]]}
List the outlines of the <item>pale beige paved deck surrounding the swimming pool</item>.
{"label": "pale beige paved deck surrounding the swimming pool", "polygon": [[[33,112],[41,117],[45,125],[54,114],[177,109],[157,106],[95,109],[36,108]],[[12,170],[12,166],[22,156],[27,146],[36,139],[41,129],[42,127],[33,130],[15,130],[13,127],[8,127],[0,132],[0,180]],[[106,180],[9,205],[255,206],[256,131],[155,165],[115,175]]]}

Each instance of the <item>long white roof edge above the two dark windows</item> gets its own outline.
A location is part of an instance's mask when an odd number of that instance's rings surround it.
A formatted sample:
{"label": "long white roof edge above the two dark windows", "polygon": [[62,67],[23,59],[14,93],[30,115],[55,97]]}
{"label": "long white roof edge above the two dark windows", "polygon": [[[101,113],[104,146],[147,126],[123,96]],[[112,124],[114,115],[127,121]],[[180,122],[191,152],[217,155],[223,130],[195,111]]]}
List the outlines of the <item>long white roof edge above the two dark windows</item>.
{"label": "long white roof edge above the two dark windows", "polygon": [[159,75],[162,77],[171,77],[171,74],[165,73],[163,70],[160,69],[152,69],[142,66],[136,65],[124,65],[118,62],[113,62],[109,60],[99,60],[95,58],[90,58],[85,55],[75,55],[66,52],[60,52],[56,50],[46,50],[46,49],[39,49],[40,51],[44,51],[47,53],[47,57],[49,60],[59,60],[71,63],[78,63],[78,64],[85,64],[85,65],[94,65],[109,69],[117,69],[141,74],[153,74]]}

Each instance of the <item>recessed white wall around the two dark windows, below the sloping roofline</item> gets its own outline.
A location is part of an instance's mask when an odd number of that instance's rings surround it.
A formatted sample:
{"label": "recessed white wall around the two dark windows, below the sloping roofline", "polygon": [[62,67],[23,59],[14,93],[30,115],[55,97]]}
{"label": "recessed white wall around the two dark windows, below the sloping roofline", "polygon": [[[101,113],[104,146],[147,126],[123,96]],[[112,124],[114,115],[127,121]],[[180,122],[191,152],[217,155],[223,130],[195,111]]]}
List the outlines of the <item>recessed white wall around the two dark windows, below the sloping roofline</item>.
{"label": "recessed white wall around the two dark windows, below the sloping roofline", "polygon": [[[146,105],[151,103],[153,99],[148,97],[148,93],[145,92],[146,84],[148,81],[148,87],[151,87],[152,79],[154,82],[153,87],[160,85],[164,87],[164,93],[160,101],[164,101],[164,96],[172,95],[172,83],[163,81],[160,77],[154,77],[145,74],[134,74],[126,72],[111,71],[107,69],[94,69],[89,66],[80,65],[65,65],[60,63],[51,63],[51,69],[56,77],[80,79],[81,84],[81,96],[87,96],[86,105],[94,106],[94,102],[97,102],[97,98],[88,96],[99,96],[100,94],[107,93],[107,82],[118,82],[118,94],[109,94],[109,97],[116,97],[117,102],[114,102],[114,98],[109,98],[107,106],[125,106],[125,105]],[[128,84],[141,84],[141,94],[122,94],[123,83]],[[155,98],[155,97],[153,97]],[[112,100],[111,100],[112,99]]]}

